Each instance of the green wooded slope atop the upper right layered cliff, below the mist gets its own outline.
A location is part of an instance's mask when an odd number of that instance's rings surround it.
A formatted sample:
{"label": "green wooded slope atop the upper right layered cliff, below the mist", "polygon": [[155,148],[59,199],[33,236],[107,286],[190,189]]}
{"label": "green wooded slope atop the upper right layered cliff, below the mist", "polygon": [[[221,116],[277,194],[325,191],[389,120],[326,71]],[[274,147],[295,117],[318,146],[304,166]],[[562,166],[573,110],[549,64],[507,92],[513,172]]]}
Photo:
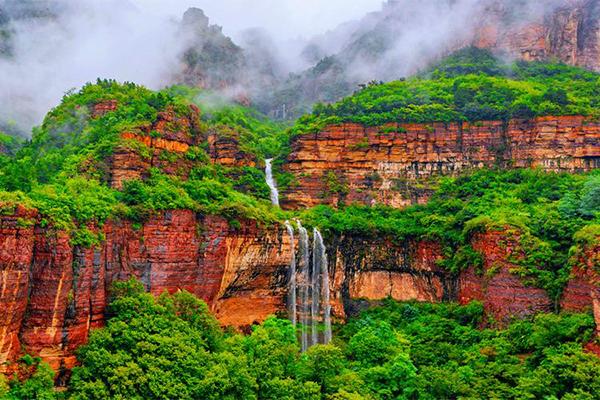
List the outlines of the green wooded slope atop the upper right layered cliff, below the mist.
{"label": "green wooded slope atop the upper right layered cliff, below the mist", "polygon": [[374,82],[338,103],[317,104],[296,133],[323,125],[460,122],[543,115],[600,117],[600,75],[550,63],[505,65],[487,50],[467,48],[410,79]]}

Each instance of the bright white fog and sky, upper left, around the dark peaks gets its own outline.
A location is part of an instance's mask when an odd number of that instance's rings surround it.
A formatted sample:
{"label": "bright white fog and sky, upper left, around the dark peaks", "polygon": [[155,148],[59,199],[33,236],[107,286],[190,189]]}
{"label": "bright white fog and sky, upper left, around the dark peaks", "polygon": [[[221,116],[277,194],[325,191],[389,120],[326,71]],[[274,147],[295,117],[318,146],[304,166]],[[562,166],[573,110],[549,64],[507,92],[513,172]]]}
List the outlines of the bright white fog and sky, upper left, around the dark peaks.
{"label": "bright white fog and sky, upper left, around the dark peaks", "polygon": [[[27,130],[65,91],[98,77],[163,87],[179,67],[185,43],[176,27],[189,7],[202,8],[238,43],[245,29],[264,28],[285,61],[287,53],[298,56],[294,43],[301,41],[291,39],[323,33],[382,6],[382,0],[64,1],[72,1],[73,9],[56,22],[15,23],[14,56],[0,59],[0,120]],[[121,7],[127,2],[135,7]]]}

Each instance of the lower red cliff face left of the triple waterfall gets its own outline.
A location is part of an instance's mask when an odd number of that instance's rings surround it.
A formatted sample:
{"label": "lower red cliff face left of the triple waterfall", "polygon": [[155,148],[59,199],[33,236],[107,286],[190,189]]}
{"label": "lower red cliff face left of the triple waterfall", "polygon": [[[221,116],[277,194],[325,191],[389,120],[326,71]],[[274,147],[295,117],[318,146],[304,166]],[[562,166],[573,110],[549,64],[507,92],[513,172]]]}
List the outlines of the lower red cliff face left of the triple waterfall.
{"label": "lower red cliff face left of the triple waterfall", "polygon": [[188,290],[224,324],[250,325],[285,309],[289,241],[253,222],[239,230],[218,217],[172,211],[140,230],[109,222],[97,248],[73,247],[48,228],[21,226],[24,210],[0,216],[0,372],[23,351],[56,370],[102,326],[110,285],[130,276],[154,294]]}

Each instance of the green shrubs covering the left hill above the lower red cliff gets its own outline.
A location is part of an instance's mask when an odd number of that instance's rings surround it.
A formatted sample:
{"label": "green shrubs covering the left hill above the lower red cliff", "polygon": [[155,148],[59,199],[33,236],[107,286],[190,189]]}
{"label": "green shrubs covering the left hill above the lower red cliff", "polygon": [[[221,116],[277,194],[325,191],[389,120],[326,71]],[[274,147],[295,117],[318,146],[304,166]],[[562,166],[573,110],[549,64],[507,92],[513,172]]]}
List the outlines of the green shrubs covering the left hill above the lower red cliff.
{"label": "green shrubs covering the left hill above the lower red cliff", "polygon": [[[160,136],[148,132],[148,127],[164,111],[193,120],[188,100],[192,94],[196,92],[181,87],[152,92],[131,83],[100,80],[67,93],[42,126],[34,129],[31,141],[20,148],[15,139],[0,134],[0,149],[6,153],[0,155],[0,190],[4,190],[0,209],[10,212],[17,204],[35,208],[42,225],[71,232],[73,244],[83,246],[102,240],[91,226],[101,227],[109,218],[142,222],[163,210],[192,209],[223,215],[232,222],[282,220],[280,211],[267,201],[264,172],[213,165],[203,147],[206,143],[192,147],[183,157],[166,151],[158,155],[166,164],[180,159],[191,162],[186,179],[153,168],[148,177],[126,182],[122,190],[110,187],[111,156],[118,146],[146,161],[153,157],[148,146],[122,139],[121,133]],[[110,107],[112,101],[118,105],[115,109]],[[98,104],[106,105],[106,110],[94,115]],[[275,154],[281,151],[277,146],[287,143],[276,136],[282,130],[250,109],[223,104],[209,110],[199,129],[238,132],[242,149],[253,156]],[[175,123],[171,128],[176,131]],[[192,132],[198,137],[203,133]]]}

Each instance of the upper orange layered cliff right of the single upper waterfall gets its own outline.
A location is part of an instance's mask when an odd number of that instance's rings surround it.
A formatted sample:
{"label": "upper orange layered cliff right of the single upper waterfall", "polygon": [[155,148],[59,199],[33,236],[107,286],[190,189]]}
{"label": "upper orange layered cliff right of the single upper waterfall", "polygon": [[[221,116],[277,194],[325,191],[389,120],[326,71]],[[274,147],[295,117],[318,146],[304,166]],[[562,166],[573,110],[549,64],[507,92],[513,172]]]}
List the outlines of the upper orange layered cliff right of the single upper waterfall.
{"label": "upper orange layered cliff right of the single upper waterfall", "polygon": [[[600,124],[584,117],[384,128],[343,124],[298,136],[286,165],[298,186],[283,194],[282,204],[299,208],[358,202],[403,207],[427,201],[428,179],[468,169],[600,167]],[[396,132],[388,133],[390,128]]]}

